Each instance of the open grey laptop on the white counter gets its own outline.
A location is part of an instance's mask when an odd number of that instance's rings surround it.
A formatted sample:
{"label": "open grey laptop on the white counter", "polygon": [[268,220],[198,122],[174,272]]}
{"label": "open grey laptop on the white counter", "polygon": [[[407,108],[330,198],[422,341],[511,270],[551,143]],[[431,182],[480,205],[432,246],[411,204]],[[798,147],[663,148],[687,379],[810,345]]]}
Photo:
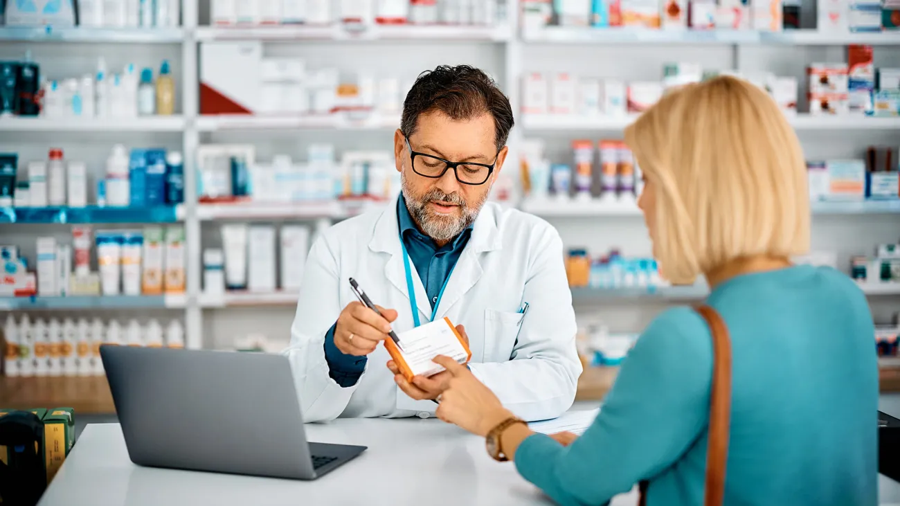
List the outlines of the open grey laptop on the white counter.
{"label": "open grey laptop on the white counter", "polygon": [[287,357],[103,346],[131,462],[313,480],[365,447],[310,443]]}

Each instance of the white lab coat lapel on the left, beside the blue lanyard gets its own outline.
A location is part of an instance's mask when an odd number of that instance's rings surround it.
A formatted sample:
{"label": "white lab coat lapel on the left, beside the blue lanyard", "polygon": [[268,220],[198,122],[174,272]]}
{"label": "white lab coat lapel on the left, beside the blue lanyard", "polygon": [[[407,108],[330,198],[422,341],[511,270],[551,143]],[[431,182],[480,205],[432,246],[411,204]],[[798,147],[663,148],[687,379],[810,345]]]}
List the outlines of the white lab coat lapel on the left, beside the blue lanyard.
{"label": "white lab coat lapel on the left, beside the blue lanyard", "polygon": [[[391,258],[384,266],[384,276],[391,282],[397,290],[403,294],[407,300],[410,300],[410,291],[406,284],[406,271],[403,268],[403,249],[400,244],[400,228],[397,226],[397,199],[382,212],[378,221],[375,222],[374,234],[369,241],[369,249],[378,253],[389,253]],[[416,267],[410,262],[410,274],[412,276],[412,286],[416,291],[416,304],[419,306],[419,320],[426,322],[431,316],[431,305],[428,301],[428,294],[425,293],[425,285],[416,272]],[[406,307],[391,308],[398,312],[412,311],[410,304]],[[411,316],[410,316],[411,318]]]}

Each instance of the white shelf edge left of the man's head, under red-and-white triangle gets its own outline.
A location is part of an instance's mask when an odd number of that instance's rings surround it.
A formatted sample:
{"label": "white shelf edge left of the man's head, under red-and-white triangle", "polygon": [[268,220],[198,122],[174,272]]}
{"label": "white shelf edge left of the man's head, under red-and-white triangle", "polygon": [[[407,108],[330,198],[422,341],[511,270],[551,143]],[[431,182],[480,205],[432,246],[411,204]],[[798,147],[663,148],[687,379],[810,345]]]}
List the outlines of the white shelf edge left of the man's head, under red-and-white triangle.
{"label": "white shelf edge left of the man's head, under red-and-white triangle", "polygon": [[220,114],[197,118],[198,131],[225,130],[394,130],[400,127],[400,115],[367,114],[354,118],[347,114],[253,115]]}

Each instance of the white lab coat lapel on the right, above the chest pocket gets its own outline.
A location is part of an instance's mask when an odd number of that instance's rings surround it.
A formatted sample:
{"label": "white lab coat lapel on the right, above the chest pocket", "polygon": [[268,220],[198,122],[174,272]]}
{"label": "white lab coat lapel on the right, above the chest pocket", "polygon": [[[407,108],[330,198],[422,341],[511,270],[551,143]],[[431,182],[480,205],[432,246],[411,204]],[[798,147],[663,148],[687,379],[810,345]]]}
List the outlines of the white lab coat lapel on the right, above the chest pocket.
{"label": "white lab coat lapel on the right, above the chest pocket", "polygon": [[482,253],[500,249],[501,246],[497,216],[492,207],[482,208],[482,212],[475,220],[472,237],[469,238],[469,243],[456,261],[453,274],[447,281],[435,318],[443,317],[447,310],[458,303],[481,279],[484,272],[481,264]]}

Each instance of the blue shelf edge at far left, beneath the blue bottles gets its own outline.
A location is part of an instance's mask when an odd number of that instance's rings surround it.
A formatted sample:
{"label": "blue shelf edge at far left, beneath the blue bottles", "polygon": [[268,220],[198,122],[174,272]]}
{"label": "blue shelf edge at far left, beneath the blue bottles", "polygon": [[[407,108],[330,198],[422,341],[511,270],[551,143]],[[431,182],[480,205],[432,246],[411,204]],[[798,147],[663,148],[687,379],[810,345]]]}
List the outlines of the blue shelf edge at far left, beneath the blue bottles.
{"label": "blue shelf edge at far left, beneath the blue bottles", "polygon": [[175,223],[182,220],[184,205],[0,208],[0,223]]}

